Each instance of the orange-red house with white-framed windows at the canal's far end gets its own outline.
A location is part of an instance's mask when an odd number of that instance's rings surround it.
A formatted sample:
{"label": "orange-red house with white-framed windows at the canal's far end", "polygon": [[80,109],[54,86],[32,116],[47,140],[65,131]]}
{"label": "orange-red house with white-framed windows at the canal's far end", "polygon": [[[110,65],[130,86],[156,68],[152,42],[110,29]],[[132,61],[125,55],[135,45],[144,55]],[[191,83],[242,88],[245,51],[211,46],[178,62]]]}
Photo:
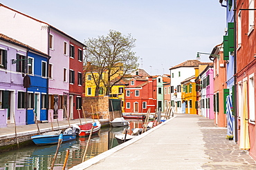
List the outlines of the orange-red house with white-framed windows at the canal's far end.
{"label": "orange-red house with white-framed windows at the canal's far end", "polygon": [[156,109],[156,80],[152,76],[131,78],[125,87],[126,113],[154,113]]}

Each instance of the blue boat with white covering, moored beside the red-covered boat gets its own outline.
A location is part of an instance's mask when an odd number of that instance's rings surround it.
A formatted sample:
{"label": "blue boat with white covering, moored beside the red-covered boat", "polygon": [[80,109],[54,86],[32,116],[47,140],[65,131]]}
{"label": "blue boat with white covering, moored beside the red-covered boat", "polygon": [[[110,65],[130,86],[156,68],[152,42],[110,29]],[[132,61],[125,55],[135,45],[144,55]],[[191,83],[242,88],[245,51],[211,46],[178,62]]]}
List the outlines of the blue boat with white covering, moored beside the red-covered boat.
{"label": "blue boat with white covering, moored beside the red-covered boat", "polygon": [[[58,142],[60,134],[62,134],[62,130],[48,131],[41,135],[31,136],[31,139],[35,145],[51,145]],[[63,132],[62,142],[74,140],[78,134],[80,134],[80,127],[73,125]]]}

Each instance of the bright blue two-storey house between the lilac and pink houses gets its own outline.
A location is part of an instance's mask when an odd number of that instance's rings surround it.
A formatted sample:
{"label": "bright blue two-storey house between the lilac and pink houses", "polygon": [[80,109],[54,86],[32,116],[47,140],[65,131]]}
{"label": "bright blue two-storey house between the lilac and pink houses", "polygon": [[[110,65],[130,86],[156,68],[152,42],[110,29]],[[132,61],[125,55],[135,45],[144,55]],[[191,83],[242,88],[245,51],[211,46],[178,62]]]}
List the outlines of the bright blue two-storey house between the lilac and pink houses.
{"label": "bright blue two-storey house between the lilac and pink houses", "polygon": [[33,111],[35,111],[37,120],[48,120],[46,105],[48,98],[47,63],[47,54],[28,51],[27,76],[30,78],[30,83],[28,82],[29,87],[27,87],[27,124],[35,123]]}

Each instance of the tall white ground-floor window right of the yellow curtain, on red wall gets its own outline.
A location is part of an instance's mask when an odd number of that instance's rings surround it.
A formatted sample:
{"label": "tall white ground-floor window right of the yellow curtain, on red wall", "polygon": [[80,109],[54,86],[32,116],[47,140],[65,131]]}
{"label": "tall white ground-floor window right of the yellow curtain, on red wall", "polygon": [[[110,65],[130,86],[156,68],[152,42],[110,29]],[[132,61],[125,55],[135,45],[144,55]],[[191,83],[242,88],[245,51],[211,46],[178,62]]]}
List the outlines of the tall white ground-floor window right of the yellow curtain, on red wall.
{"label": "tall white ground-floor window right of the yellow curtain, on red wall", "polygon": [[254,77],[249,78],[249,118],[255,120],[255,91],[254,91]]}

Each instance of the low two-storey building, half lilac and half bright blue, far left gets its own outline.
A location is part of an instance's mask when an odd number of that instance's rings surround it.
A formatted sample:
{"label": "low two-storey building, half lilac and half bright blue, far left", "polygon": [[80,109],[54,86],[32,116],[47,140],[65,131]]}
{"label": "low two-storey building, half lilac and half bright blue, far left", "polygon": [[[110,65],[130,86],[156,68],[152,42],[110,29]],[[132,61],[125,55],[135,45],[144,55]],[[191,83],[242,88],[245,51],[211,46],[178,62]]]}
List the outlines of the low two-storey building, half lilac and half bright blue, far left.
{"label": "low two-storey building, half lilac and half bright blue, far left", "polygon": [[33,106],[38,119],[46,118],[46,103],[35,99],[46,96],[47,78],[41,71],[47,59],[47,54],[0,34],[0,127],[33,123]]}

